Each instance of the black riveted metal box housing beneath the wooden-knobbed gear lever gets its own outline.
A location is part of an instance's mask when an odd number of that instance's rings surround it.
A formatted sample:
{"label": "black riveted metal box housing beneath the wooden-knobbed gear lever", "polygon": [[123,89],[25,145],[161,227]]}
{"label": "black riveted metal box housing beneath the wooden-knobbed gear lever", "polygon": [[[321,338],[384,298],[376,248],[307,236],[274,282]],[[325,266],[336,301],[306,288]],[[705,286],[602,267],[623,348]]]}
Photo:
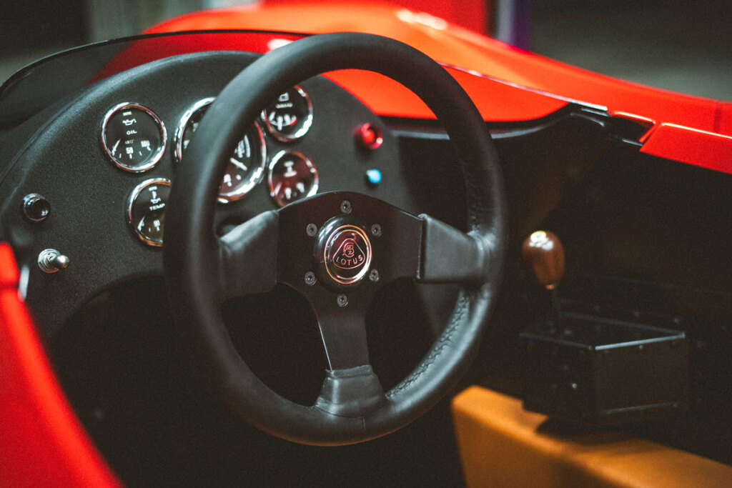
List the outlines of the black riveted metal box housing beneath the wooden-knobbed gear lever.
{"label": "black riveted metal box housing beneath the wooden-knobbed gear lever", "polygon": [[526,410],[610,426],[676,416],[688,407],[689,345],[682,331],[574,312],[520,335]]}

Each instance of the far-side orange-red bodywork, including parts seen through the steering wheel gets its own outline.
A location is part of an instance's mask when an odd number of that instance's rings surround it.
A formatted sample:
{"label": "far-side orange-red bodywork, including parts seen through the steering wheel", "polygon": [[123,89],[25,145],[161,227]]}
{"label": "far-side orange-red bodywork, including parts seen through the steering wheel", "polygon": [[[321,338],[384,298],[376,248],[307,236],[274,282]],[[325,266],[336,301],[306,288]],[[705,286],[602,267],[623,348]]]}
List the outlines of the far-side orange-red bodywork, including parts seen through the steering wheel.
{"label": "far-side orange-red bodywork, including parts seen through the steering wheel", "polygon": [[[281,1],[184,15],[160,23],[149,32],[267,30],[272,29],[272,26],[283,31],[308,34],[333,31],[380,34],[406,42],[443,63],[489,75],[510,85],[557,96],[530,95],[528,91],[508,89],[497,82],[487,91],[485,84],[477,86],[471,83],[468,75],[457,76],[484,118],[490,121],[536,119],[563,106],[565,102],[562,99],[569,99],[600,105],[610,113],[631,113],[638,119],[652,120],[657,124],[675,124],[732,136],[732,103],[677,94],[597,75],[395,4]],[[404,89],[395,88],[394,83],[360,74],[343,75],[339,72],[330,76],[381,115],[431,116],[419,100],[406,94]],[[688,138],[680,142],[675,140],[681,136]],[[708,142],[713,146],[703,147]],[[701,138],[698,132],[684,132],[680,127],[673,131],[662,129],[654,132],[643,152],[732,173],[732,140],[728,138]]]}

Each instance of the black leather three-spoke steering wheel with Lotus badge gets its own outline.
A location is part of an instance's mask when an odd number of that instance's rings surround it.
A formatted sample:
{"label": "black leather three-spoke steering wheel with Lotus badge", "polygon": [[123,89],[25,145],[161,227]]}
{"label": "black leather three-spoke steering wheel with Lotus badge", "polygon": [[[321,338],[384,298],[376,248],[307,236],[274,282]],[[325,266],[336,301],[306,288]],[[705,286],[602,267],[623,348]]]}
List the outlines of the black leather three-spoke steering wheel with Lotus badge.
{"label": "black leather three-spoke steering wheel with Lotus badge", "polygon": [[[452,140],[466,187],[468,233],[349,192],[266,211],[219,238],[217,192],[239,136],[280,93],[322,72],[370,70],[433,110]],[[481,116],[435,61],[395,40],[323,34],[278,48],[221,91],[171,190],[163,260],[182,341],[203,382],[245,421],[298,443],[336,446],[386,435],[425,413],[477,353],[504,259],[505,204],[496,151]],[[461,283],[455,309],[407,378],[384,392],[369,364],[365,315],[386,283]],[[266,386],[236,352],[223,301],[285,283],[307,298],[329,369],[315,405]]]}

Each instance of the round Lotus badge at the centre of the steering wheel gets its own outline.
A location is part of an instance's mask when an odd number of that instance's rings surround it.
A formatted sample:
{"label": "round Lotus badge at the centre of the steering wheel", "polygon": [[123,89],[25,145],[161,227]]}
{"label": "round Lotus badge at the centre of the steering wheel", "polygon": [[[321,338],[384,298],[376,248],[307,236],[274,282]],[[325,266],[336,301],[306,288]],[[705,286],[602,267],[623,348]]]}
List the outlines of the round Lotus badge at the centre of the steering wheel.
{"label": "round Lotus badge at the centre of the steering wheel", "polygon": [[366,276],[371,264],[371,243],[362,228],[342,225],[328,237],[325,269],[340,285],[353,285]]}

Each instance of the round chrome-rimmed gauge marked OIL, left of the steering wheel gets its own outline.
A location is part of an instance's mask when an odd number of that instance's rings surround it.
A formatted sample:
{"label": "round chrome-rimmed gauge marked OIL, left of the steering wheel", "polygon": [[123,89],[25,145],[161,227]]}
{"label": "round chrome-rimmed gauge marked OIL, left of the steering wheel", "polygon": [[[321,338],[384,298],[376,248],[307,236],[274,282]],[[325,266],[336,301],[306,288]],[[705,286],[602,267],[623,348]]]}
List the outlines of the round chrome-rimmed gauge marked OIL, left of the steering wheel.
{"label": "round chrome-rimmed gauge marked OIL, left of the steering wheel", "polygon": [[102,123],[102,149],[118,168],[140,173],[160,161],[165,151],[165,125],[149,108],[121,103]]}

